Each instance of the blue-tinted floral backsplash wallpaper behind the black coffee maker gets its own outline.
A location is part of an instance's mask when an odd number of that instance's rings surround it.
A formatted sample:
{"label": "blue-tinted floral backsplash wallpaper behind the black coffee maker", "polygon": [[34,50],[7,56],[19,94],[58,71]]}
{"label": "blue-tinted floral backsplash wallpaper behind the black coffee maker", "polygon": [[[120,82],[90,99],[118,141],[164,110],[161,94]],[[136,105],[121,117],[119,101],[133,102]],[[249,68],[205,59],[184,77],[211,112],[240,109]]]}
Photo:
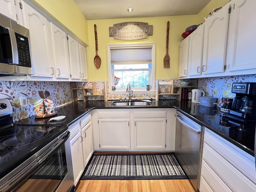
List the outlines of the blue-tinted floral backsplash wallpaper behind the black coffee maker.
{"label": "blue-tinted floral backsplash wallpaper behind the black coffee maker", "polygon": [[231,92],[234,82],[256,82],[256,74],[198,79],[198,89],[204,90],[206,96],[217,97],[220,103],[222,97],[236,96]]}

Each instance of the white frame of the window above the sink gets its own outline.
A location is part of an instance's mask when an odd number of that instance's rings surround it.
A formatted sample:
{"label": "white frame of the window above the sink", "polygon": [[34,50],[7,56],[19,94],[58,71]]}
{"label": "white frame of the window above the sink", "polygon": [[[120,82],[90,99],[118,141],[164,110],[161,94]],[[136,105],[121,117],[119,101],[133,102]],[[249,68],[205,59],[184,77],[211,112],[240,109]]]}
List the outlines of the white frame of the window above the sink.
{"label": "white frame of the window above the sink", "polygon": [[[111,48],[131,48],[131,47],[142,47],[142,46],[149,46],[152,48],[152,72],[149,74],[149,79],[151,79],[151,90],[146,90],[146,88],[132,88],[134,94],[143,94],[143,93],[152,93],[155,91],[155,43],[136,43],[136,44],[108,44],[107,45],[107,52],[108,52],[108,92],[110,94],[127,94],[126,88],[117,89],[116,91],[112,91],[112,86],[114,85],[114,77],[112,76],[111,70]],[[150,69],[149,69],[150,71]],[[149,80],[150,81],[150,80]]]}

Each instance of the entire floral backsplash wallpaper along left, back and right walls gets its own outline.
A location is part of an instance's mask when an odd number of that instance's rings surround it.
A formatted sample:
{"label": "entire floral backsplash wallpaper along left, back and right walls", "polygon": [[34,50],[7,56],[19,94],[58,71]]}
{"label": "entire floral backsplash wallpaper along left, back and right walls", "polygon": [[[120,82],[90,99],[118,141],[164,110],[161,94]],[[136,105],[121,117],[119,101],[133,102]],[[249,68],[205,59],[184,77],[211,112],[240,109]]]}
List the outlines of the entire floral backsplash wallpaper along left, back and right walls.
{"label": "entire floral backsplash wallpaper along left, back and right walls", "polygon": [[[181,80],[188,81],[189,80]],[[160,80],[160,82],[168,82],[168,80]],[[178,85],[180,80],[174,80],[174,85]],[[220,103],[222,97],[234,97],[231,92],[233,82],[256,82],[256,74],[242,76],[226,76],[198,79],[198,89],[204,90],[206,96],[214,96],[218,98]],[[104,100],[104,83],[108,88],[108,82],[96,82],[96,94],[100,96],[88,96],[88,100]],[[77,82],[78,87],[88,88],[88,94],[92,93],[92,82]],[[155,86],[155,85],[154,85]],[[91,90],[90,90],[91,89]],[[162,89],[162,88],[160,88]],[[12,105],[13,120],[21,120],[34,115],[33,103],[40,99],[38,91],[49,91],[49,99],[54,102],[55,107],[62,106],[72,102],[70,91],[70,82],[23,82],[23,81],[0,81],[0,99],[7,98]],[[163,92],[163,90],[159,90]],[[83,95],[79,93],[81,100]],[[28,106],[20,106],[20,97],[28,99]],[[133,99],[155,99],[155,93],[133,94]],[[128,94],[109,94],[108,100],[120,100],[120,98],[128,98]],[[174,96],[162,97],[160,99],[175,99]]]}

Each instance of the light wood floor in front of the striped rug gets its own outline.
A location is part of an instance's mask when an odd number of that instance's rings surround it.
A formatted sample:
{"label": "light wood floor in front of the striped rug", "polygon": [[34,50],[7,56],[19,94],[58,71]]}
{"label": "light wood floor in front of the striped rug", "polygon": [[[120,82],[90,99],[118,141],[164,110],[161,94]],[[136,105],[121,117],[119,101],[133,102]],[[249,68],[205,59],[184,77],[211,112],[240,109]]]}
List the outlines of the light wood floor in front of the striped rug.
{"label": "light wood floor in front of the striped rug", "polygon": [[76,192],[194,192],[182,180],[80,180]]}

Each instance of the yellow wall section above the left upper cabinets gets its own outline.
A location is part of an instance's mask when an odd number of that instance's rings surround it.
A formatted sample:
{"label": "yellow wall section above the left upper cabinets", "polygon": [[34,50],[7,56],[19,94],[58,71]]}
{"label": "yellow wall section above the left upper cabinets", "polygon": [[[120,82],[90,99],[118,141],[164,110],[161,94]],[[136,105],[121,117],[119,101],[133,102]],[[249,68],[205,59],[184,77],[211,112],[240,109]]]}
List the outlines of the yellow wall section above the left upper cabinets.
{"label": "yellow wall section above the left upper cabinets", "polygon": [[73,0],[34,0],[88,45],[87,20]]}

